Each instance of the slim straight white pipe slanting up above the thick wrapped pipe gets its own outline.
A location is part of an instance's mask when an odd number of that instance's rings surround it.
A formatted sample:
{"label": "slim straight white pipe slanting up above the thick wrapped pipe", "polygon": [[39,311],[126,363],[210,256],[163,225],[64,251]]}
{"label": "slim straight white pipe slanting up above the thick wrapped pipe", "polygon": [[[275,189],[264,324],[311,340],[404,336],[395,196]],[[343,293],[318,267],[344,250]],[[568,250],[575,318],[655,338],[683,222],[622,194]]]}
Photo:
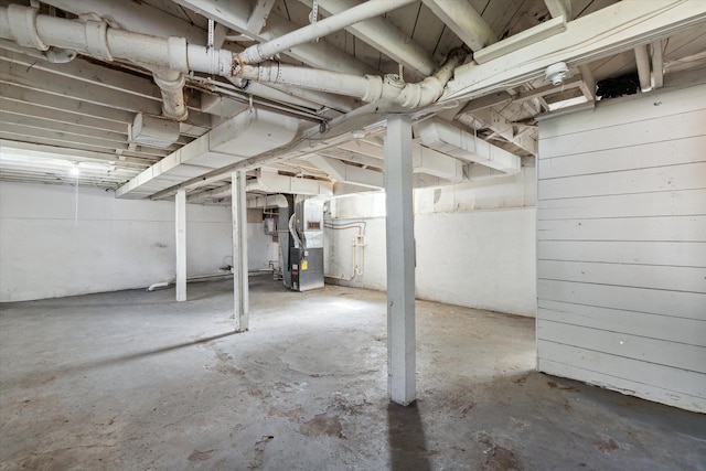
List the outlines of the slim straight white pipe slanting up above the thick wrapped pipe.
{"label": "slim straight white pipe slanting up above the thick wrapped pipe", "polygon": [[276,38],[261,44],[254,44],[247,47],[237,56],[237,62],[244,64],[257,64],[275,54],[285,52],[299,44],[317,40],[327,34],[341,31],[351,24],[370,18],[379,17],[388,11],[414,3],[416,0],[368,0],[356,7],[353,7],[340,14],[334,14],[308,26],[300,28],[289,34]]}

